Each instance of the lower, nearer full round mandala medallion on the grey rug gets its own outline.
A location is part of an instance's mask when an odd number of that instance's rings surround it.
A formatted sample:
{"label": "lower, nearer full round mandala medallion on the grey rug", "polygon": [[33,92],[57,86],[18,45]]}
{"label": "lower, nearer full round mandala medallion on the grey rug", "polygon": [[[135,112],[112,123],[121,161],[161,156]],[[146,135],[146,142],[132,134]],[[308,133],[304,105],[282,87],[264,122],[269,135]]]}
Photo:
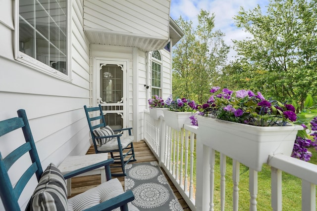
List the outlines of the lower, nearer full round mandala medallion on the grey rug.
{"label": "lower, nearer full round mandala medallion on the grey rug", "polygon": [[145,183],[137,186],[134,190],[133,204],[146,209],[156,208],[164,204],[168,198],[168,190],[156,183]]}

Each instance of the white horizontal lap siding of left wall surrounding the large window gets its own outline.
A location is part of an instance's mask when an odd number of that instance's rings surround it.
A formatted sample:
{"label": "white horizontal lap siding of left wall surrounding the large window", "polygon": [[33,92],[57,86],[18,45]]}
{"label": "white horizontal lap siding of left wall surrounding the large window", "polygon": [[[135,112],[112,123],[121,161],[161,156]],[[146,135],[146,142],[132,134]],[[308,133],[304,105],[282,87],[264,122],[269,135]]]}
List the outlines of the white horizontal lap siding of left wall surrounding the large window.
{"label": "white horizontal lap siding of left wall surrounding the large window", "polygon": [[[85,154],[90,146],[83,110],[83,105],[89,105],[90,99],[90,46],[83,33],[82,1],[72,2],[71,82],[14,60],[14,31],[9,20],[11,18],[13,22],[13,17],[0,20],[0,120],[17,116],[18,109],[26,110],[43,168],[51,162],[58,165],[68,155]],[[14,11],[12,4],[1,4],[1,7],[5,11]],[[20,144],[18,140],[21,138],[20,131],[0,137],[2,157]],[[10,142],[4,143],[4,139]],[[27,162],[23,160],[12,169],[13,183]],[[30,182],[29,188],[20,198],[22,210],[35,184],[34,180]],[[1,202],[0,210],[4,210]]]}

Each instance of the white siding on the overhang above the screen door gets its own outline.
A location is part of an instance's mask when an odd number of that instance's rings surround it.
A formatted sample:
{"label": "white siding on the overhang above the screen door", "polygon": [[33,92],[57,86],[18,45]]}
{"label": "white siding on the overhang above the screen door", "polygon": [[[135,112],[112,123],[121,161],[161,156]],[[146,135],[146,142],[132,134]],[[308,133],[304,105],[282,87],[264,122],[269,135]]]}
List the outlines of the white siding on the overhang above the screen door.
{"label": "white siding on the overhang above the screen door", "polygon": [[168,40],[169,5],[170,0],[85,0],[85,29]]}

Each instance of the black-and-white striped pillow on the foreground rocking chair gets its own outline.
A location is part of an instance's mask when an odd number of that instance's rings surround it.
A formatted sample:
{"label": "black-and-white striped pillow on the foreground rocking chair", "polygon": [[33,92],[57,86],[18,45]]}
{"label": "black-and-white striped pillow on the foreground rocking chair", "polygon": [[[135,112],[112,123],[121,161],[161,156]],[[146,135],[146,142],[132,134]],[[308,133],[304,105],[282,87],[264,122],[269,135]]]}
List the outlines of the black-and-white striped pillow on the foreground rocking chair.
{"label": "black-and-white striped pillow on the foreground rocking chair", "polygon": [[50,164],[31,198],[31,211],[67,211],[66,183],[60,170]]}

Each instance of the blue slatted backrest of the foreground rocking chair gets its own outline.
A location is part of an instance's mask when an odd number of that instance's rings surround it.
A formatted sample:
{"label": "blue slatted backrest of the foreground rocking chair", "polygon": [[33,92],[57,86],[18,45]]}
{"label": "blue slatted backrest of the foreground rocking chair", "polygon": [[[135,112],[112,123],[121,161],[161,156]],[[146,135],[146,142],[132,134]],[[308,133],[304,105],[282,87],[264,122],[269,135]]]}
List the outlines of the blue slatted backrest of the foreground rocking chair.
{"label": "blue slatted backrest of the foreground rocking chair", "polygon": [[[4,159],[0,154],[0,197],[3,206],[7,211],[20,211],[18,199],[26,184],[29,182],[30,178],[33,177],[33,175],[36,175],[36,178],[39,181],[43,173],[25,110],[20,109],[17,111],[17,113],[18,117],[0,122],[0,136],[15,129],[21,128],[25,139],[25,143],[12,150]],[[4,138],[3,141],[10,142],[12,140]],[[12,168],[13,164],[23,155],[29,155],[32,164],[30,164],[25,172],[22,172],[22,169],[21,172],[19,172],[17,169],[18,167],[14,167],[16,169],[12,169],[13,171],[17,170],[18,173],[23,173],[13,187],[7,171],[8,169]]]}

